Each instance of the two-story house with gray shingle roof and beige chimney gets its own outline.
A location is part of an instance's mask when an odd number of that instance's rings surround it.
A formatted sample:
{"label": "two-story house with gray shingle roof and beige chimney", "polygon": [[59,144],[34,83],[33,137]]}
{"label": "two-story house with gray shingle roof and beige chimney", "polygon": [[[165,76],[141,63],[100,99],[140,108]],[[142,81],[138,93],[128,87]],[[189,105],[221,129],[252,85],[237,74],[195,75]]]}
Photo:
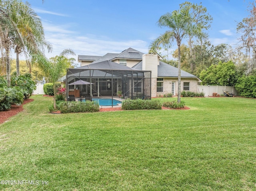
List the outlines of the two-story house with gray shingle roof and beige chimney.
{"label": "two-story house with gray shingle roof and beige chimney", "polygon": [[[172,95],[178,94],[178,68],[164,63],[161,61],[162,57],[157,53],[144,54],[132,48],[128,48],[121,53],[107,53],[103,56],[92,55],[78,55],[78,62],[81,63],[82,68],[92,68],[95,64],[104,65],[110,62],[114,62],[129,69],[135,69],[140,71],[151,71],[151,96],[156,97],[166,93],[172,93]],[[108,61],[108,62],[106,62]],[[117,65],[116,65],[117,66]],[[115,66],[112,66],[115,67]],[[181,71],[181,91],[197,91],[198,82],[200,79],[188,72]],[[105,84],[102,82],[102,84]],[[118,82],[118,87],[115,89],[117,93],[118,89],[122,88],[123,83]],[[135,83],[134,83],[135,84]],[[138,84],[137,89],[138,89]],[[139,85],[140,86],[140,85]]]}

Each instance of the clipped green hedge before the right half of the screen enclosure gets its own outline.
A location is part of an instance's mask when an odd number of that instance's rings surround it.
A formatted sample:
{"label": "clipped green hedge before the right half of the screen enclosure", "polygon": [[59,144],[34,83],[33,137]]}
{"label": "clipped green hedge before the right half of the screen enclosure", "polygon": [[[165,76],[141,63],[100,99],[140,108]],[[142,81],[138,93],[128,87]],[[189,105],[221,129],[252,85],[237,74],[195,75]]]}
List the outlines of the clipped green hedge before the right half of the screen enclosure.
{"label": "clipped green hedge before the right half of the screen enclosure", "polygon": [[130,98],[128,98],[122,101],[122,109],[162,109],[162,104],[160,103],[160,100],[131,100]]}

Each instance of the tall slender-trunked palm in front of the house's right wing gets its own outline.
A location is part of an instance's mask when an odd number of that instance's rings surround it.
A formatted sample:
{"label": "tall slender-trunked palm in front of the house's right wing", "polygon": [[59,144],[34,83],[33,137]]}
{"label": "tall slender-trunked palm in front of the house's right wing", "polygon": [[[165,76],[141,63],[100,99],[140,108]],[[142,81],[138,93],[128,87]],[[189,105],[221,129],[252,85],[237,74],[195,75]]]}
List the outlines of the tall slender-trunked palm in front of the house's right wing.
{"label": "tall slender-trunked palm in front of the house's right wing", "polygon": [[[180,45],[184,37],[201,33],[201,28],[193,24],[193,19],[189,14],[187,7],[181,10],[175,10],[172,13],[166,13],[158,20],[158,26],[170,28],[167,31],[170,36],[170,42],[176,40],[178,46],[178,102],[181,95],[181,61],[180,61]],[[159,37],[158,37],[159,38]]]}

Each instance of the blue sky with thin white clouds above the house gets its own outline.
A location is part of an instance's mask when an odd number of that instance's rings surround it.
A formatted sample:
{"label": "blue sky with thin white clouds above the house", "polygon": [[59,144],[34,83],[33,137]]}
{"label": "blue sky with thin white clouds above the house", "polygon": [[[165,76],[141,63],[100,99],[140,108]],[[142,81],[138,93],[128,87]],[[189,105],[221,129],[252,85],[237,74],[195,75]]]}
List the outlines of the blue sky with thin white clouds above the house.
{"label": "blue sky with thin white clouds above the house", "polygon": [[[252,1],[252,0],[250,0]],[[168,28],[156,22],[163,14],[179,9],[181,0],[28,0],[40,16],[46,40],[59,55],[66,48],[77,55],[120,53],[132,47],[148,53],[150,42]],[[199,4],[202,1],[191,0]],[[248,0],[204,0],[213,17],[208,31],[212,44],[237,42],[236,22],[248,16]],[[187,43],[186,39],[182,43]],[[176,49],[176,46],[173,46]]]}

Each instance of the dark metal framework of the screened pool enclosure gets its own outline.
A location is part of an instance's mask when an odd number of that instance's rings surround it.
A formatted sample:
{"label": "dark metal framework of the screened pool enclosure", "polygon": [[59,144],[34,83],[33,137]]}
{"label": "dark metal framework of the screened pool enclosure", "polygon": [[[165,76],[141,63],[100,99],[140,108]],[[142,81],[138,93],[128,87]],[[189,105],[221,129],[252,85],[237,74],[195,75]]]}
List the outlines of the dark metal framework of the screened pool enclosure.
{"label": "dark metal framework of the screened pool enclosure", "polygon": [[[123,90],[123,77],[126,77],[126,84],[129,83],[131,88],[129,91],[124,92]],[[120,69],[91,69],[91,68],[74,68],[74,69],[68,69],[66,72],[66,98],[68,100],[68,92],[69,92],[69,79],[89,79],[88,82],[92,83],[92,79],[111,79],[111,97],[112,97],[112,107],[113,107],[113,97],[114,96],[114,86],[113,86],[113,79],[121,79],[121,87],[122,87],[122,93],[125,98],[137,98],[137,96],[134,96],[133,90],[134,90],[134,80],[135,78],[138,81],[139,79],[143,79],[143,89],[142,89],[142,95],[140,97],[151,99],[151,71],[142,71],[142,70],[136,70],[136,69],[130,69],[130,70],[120,70]],[[145,79],[148,79],[145,82]],[[146,84],[145,84],[146,83]],[[92,85],[90,86],[90,96],[92,95]],[[129,87],[129,86],[128,86]],[[138,87],[137,87],[138,88]],[[130,91],[131,90],[131,91]],[[138,90],[137,90],[138,93]],[[146,95],[147,94],[147,95]],[[97,96],[98,97],[98,96]]]}

